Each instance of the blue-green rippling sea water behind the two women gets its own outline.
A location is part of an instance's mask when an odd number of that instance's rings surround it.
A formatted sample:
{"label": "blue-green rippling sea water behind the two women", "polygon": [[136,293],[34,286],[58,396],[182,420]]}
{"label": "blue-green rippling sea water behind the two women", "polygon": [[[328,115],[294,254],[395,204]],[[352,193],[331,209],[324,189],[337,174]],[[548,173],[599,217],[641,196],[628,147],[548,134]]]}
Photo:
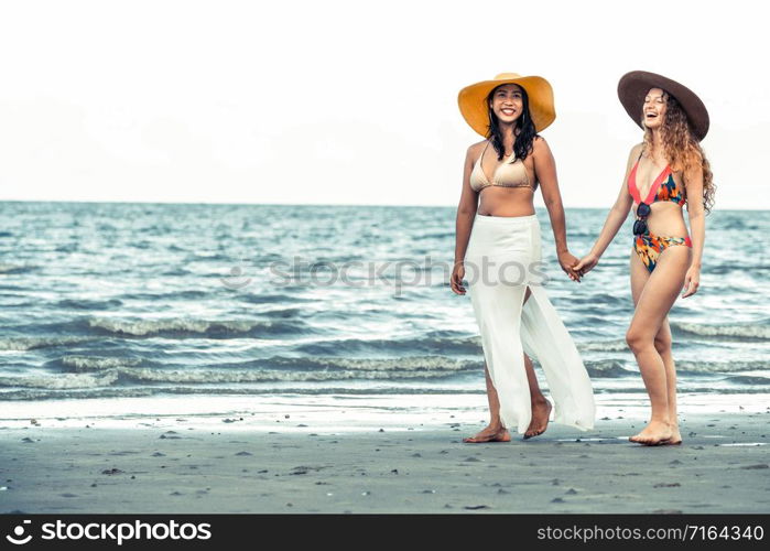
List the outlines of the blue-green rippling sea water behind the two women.
{"label": "blue-green rippling sea water behind the two women", "polygon": [[[0,203],[0,400],[484,393],[449,207]],[[588,251],[604,209],[567,209]],[[643,393],[625,333],[630,219],[577,284],[547,213],[546,291],[597,393]],[[707,217],[670,322],[681,392],[770,392],[770,212]]]}

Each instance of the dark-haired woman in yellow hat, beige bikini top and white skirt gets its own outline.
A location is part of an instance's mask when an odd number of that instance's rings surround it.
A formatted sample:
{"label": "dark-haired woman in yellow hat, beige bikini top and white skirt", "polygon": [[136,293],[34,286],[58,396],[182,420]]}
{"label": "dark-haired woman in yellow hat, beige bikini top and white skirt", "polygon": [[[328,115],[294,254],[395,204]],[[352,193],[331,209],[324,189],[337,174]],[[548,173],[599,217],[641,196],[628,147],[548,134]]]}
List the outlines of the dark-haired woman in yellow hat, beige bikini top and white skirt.
{"label": "dark-haired woman in yellow hat, beige bikini top and white skirt", "polygon": [[[554,422],[590,429],[595,409],[588,374],[538,277],[541,241],[533,197],[541,184],[558,262],[578,279],[553,155],[538,134],[555,119],[551,85],[538,76],[501,73],[463,88],[458,104],[485,140],[470,145],[465,158],[451,287],[465,294],[466,268],[476,272],[467,284],[481,333],[490,410],[489,425],[463,441],[509,442],[509,429],[524,439],[536,436],[552,409]],[[503,267],[511,271],[502,273]],[[553,407],[530,357],[545,372]]]}

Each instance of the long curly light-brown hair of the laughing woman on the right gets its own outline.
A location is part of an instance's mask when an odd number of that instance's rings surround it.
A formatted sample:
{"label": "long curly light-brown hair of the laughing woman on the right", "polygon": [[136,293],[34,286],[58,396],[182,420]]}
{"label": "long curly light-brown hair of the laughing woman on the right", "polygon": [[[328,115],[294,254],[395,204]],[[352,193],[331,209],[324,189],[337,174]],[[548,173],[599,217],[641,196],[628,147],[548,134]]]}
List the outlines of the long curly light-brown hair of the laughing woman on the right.
{"label": "long curly light-brown hair of the laughing woman on the right", "polygon": [[[701,148],[701,143],[693,136],[687,116],[676,98],[663,90],[665,100],[665,118],[661,127],[661,141],[663,153],[669,160],[671,169],[674,171],[687,171],[699,166],[703,170],[703,208],[706,214],[712,212],[714,205],[714,175],[712,165],[706,159],[706,153]],[[644,151],[651,155],[654,151],[652,145],[652,130],[644,125],[642,115],[642,127],[644,128]]]}

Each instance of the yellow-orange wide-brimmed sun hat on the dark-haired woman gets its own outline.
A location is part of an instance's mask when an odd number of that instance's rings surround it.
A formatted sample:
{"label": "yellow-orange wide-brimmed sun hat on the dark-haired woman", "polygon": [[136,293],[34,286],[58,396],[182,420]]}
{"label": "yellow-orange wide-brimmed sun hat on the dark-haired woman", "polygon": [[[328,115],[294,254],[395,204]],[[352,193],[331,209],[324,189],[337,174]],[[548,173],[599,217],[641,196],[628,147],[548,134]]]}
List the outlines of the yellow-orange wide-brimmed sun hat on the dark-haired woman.
{"label": "yellow-orange wide-brimmed sun hat on the dark-haired woman", "polygon": [[518,84],[527,90],[530,115],[538,132],[547,128],[556,118],[556,111],[553,108],[553,88],[545,78],[521,76],[517,73],[500,73],[491,80],[481,80],[466,86],[459,90],[457,96],[463,118],[479,134],[486,138],[489,129],[487,95],[501,84]]}

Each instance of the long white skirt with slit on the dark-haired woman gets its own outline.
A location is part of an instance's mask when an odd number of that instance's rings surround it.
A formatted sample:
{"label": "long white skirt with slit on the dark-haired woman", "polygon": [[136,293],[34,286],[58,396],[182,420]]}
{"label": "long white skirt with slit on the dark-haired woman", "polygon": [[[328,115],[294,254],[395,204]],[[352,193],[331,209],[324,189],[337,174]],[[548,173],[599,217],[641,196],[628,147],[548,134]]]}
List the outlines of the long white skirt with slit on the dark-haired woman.
{"label": "long white skirt with slit on the dark-haired woman", "polygon": [[[590,379],[545,293],[536,215],[477,214],[465,255],[465,279],[502,423],[519,433],[529,428],[527,353],[545,374],[554,422],[593,429],[596,409]],[[531,295],[524,303],[527,288]]]}

